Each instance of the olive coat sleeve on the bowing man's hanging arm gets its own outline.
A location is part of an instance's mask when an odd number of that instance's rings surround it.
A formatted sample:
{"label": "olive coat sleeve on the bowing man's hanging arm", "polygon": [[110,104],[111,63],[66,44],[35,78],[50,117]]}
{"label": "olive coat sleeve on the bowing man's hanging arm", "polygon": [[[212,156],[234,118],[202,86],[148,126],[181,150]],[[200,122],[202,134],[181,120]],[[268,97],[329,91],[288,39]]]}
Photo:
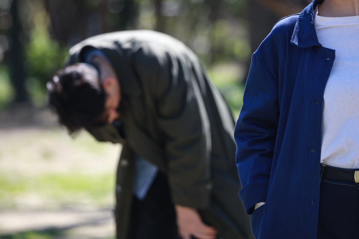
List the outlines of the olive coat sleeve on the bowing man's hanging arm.
{"label": "olive coat sleeve on the bowing man's hanging arm", "polygon": [[211,189],[210,124],[187,63],[159,44],[136,52],[137,74],[149,87],[157,111],[174,204],[205,208]]}

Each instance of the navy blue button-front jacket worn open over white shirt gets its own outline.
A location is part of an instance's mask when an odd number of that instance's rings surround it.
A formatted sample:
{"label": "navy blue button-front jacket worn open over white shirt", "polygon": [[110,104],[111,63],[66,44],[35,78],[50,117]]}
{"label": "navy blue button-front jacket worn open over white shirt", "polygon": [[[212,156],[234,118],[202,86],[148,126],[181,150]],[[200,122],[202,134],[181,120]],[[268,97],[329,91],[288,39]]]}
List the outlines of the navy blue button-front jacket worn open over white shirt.
{"label": "navy blue button-front jacket worn open over white shirt", "polygon": [[314,28],[322,1],[281,19],[252,56],[234,137],[257,239],[317,238],[323,94],[335,58]]}

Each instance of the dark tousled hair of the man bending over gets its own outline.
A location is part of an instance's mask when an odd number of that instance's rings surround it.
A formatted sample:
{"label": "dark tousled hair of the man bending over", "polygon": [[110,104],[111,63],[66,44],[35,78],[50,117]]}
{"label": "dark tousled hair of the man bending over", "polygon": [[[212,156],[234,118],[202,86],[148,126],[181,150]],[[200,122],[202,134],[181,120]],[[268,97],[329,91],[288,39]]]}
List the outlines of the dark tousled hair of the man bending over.
{"label": "dark tousled hair of the man bending over", "polygon": [[106,92],[96,68],[86,63],[67,66],[57,71],[46,86],[49,104],[70,134],[99,123]]}

